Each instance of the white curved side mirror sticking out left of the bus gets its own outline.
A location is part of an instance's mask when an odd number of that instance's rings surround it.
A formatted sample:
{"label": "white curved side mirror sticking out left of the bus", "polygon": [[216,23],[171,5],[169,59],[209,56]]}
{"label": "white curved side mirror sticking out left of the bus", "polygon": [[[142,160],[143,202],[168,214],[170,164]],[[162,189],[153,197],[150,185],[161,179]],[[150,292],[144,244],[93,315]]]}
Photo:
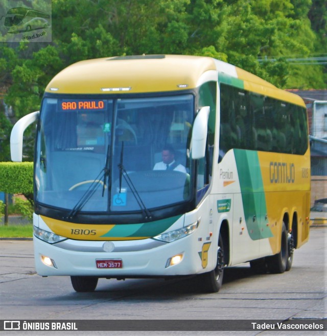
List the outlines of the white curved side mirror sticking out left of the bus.
{"label": "white curved side mirror sticking out left of the bus", "polygon": [[20,118],[10,134],[10,154],[14,162],[22,161],[22,136],[24,131],[39,117],[40,111],[35,111]]}

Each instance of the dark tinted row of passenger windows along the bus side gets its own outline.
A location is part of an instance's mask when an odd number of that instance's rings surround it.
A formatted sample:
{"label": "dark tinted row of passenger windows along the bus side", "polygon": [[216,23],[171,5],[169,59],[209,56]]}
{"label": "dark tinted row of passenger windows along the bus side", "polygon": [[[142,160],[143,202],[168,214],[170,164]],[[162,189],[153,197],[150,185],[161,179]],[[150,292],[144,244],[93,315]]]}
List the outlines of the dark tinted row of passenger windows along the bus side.
{"label": "dark tinted row of passenger windows along the bus side", "polygon": [[220,84],[219,159],[232,148],[300,154],[308,148],[306,110]]}

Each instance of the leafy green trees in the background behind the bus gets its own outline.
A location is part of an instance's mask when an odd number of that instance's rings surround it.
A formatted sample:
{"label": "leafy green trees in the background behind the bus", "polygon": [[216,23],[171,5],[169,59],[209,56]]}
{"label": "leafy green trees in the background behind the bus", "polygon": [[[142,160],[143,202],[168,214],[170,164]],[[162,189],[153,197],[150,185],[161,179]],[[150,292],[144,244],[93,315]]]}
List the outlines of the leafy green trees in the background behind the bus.
{"label": "leafy green trees in the background behind the bus", "polygon": [[[52,43],[2,43],[0,93],[17,119],[39,109],[69,64],[143,53],[211,56],[281,88],[323,89],[326,65],[288,59],[326,56],[326,21],[325,0],[52,0]],[[0,115],[0,160],[9,160],[10,125]],[[33,136],[30,127],[28,160]]]}

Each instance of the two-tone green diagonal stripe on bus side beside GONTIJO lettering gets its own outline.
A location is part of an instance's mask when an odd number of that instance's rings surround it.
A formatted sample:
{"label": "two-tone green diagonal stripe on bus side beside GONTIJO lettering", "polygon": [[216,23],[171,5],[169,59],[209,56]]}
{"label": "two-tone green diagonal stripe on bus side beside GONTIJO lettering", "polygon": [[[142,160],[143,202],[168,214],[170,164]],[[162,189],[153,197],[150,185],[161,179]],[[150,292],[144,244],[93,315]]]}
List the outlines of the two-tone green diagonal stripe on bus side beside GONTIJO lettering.
{"label": "two-tone green diagonal stripe on bus side beside GONTIJO lettering", "polygon": [[245,222],[253,240],[272,237],[266,225],[266,198],[258,152],[234,150],[239,175]]}

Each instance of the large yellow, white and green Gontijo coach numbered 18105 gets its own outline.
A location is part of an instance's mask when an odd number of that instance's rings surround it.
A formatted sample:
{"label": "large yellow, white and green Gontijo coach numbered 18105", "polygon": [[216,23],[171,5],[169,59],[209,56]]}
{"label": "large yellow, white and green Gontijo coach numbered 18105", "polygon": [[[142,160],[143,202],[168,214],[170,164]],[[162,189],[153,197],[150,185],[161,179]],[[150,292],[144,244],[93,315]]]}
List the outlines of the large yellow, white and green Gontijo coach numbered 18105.
{"label": "large yellow, white and green Gontijo coach numbered 18105", "polygon": [[[13,161],[36,121],[36,271],[70,276],[77,292],[147,277],[218,292],[226,267],[289,271],[309,239],[306,105],[234,65],[181,55],[70,65],[15,124]],[[154,169],[164,154],[182,169]]]}

